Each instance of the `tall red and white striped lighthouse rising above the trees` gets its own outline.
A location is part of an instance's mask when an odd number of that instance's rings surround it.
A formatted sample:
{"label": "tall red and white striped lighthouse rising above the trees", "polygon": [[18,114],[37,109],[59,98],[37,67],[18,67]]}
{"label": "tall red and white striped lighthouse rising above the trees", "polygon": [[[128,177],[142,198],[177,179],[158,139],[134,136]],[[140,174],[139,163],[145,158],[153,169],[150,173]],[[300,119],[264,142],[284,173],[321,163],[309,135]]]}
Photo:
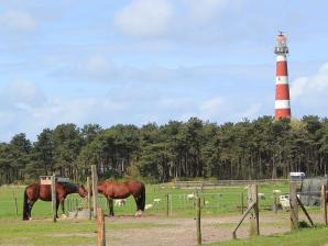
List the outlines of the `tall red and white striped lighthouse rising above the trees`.
{"label": "tall red and white striped lighthouse rising above the trees", "polygon": [[276,54],[276,74],[275,74],[275,120],[291,118],[291,101],[288,86],[287,38],[281,32],[276,38],[274,53]]}

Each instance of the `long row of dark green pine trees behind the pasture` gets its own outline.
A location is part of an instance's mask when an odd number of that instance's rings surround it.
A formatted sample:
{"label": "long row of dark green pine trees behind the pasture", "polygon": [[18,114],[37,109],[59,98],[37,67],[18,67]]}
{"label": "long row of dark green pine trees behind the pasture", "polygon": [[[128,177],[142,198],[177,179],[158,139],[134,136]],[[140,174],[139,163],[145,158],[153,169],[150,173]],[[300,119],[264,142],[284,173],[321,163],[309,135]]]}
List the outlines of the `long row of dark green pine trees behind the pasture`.
{"label": "long row of dark green pine trees behind the pasture", "polygon": [[61,124],[35,142],[24,133],[0,144],[0,185],[30,182],[55,172],[74,181],[97,165],[103,179],[287,178],[289,171],[322,176],[328,164],[328,119],[275,121],[261,116],[238,123],[170,121],[141,127]]}

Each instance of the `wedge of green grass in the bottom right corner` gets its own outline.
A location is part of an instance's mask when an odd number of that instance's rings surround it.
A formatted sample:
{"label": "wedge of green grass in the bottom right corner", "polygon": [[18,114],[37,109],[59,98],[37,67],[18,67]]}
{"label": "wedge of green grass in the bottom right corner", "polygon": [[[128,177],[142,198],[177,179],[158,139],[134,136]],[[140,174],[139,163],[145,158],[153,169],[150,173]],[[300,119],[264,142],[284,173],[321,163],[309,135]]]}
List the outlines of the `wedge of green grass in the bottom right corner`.
{"label": "wedge of green grass in the bottom right corner", "polygon": [[259,236],[252,239],[230,241],[207,246],[324,246],[328,243],[328,227],[304,228],[293,233]]}

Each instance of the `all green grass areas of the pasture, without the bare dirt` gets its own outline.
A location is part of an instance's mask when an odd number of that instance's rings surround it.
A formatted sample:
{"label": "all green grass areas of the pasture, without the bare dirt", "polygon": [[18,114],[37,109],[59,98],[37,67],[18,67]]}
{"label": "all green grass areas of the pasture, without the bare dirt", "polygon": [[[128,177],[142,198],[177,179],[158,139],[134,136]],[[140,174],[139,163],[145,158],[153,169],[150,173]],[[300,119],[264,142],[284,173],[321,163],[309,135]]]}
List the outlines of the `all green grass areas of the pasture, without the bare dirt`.
{"label": "all green grass areas of the pasture, without the bare dirt", "polygon": [[[264,200],[260,200],[260,208],[264,212],[272,204],[272,190],[280,189],[282,192],[287,192],[287,185],[261,185],[259,192],[265,194]],[[33,208],[33,221],[23,222],[22,219],[22,199],[24,187],[2,186],[0,187],[0,245],[95,245],[96,244],[96,224],[94,221],[87,220],[59,220],[53,223],[52,209],[50,202],[37,201]],[[111,238],[116,238],[122,231],[134,232],[140,230],[143,233],[152,230],[163,230],[163,233],[170,230],[177,231],[178,225],[176,221],[186,220],[190,222],[194,228],[194,203],[189,201],[186,195],[195,192],[195,190],[174,189],[171,186],[146,186],[146,203],[153,203],[153,200],[161,199],[158,204],[153,204],[153,208],[145,212],[145,217],[150,220],[135,221],[132,217],[135,212],[135,203],[132,198],[128,199],[127,205],[114,208],[116,215],[123,216],[124,220],[118,219],[111,222],[107,227],[107,232]],[[200,191],[198,191],[200,193]],[[166,219],[166,194],[170,194],[168,212],[171,216]],[[218,217],[231,214],[238,217],[240,214],[241,193],[245,194],[244,187],[222,187],[217,189],[206,189],[200,193],[203,198],[203,216]],[[15,201],[18,203],[18,213],[15,209]],[[78,195],[70,197],[70,203],[76,206],[84,206],[86,201]],[[67,204],[66,204],[67,205]],[[107,213],[106,201],[101,200],[101,205]],[[316,211],[318,209],[311,209]],[[264,212],[272,213],[272,212]],[[61,213],[59,213],[61,214]],[[172,221],[171,221],[172,220]],[[284,226],[288,223],[284,222]],[[209,228],[216,232],[217,230],[231,231],[234,222],[226,222],[217,225],[206,225],[204,230]],[[274,225],[273,223],[270,225]],[[160,234],[161,235],[161,234]],[[319,227],[316,230],[302,230],[292,234],[280,234],[274,236],[261,236],[251,241],[232,241],[220,244],[209,245],[324,245],[328,243],[328,230]],[[215,242],[215,241],[214,241]],[[120,245],[119,238],[112,239],[112,245]],[[109,244],[111,245],[111,244]],[[123,245],[123,244],[122,244]],[[147,245],[147,244],[144,244]],[[156,244],[149,244],[156,245]]]}

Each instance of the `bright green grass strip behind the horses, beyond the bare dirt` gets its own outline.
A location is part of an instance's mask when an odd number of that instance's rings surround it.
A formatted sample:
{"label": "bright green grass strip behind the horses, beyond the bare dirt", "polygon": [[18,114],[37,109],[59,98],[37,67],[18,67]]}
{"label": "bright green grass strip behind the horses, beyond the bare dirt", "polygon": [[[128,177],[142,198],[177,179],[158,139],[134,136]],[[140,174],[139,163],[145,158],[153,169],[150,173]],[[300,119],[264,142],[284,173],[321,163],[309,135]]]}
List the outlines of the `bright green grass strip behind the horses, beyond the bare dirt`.
{"label": "bright green grass strip behind the horses, beyond the bare dirt", "polygon": [[[261,185],[259,192],[265,194],[264,200],[260,200],[260,208],[266,210],[273,202],[272,190],[280,189],[282,192],[287,192],[286,183],[278,185]],[[22,216],[23,208],[23,187],[0,187],[0,220],[1,219],[19,219]],[[165,215],[167,210],[166,194],[171,194],[168,202],[170,213],[173,216],[193,216],[195,213],[193,201],[187,200],[186,194],[195,192],[194,189],[174,189],[172,187],[146,186],[146,204],[152,203],[153,200],[161,199],[160,204],[146,211],[147,214]],[[217,189],[204,189],[203,193],[198,191],[201,197],[203,215],[220,215],[227,213],[238,213],[241,206],[241,193],[243,193],[244,205],[247,203],[247,190],[244,187],[222,187]],[[100,194],[100,204],[107,213],[108,208],[106,200]],[[18,214],[15,211],[15,200],[18,202]],[[68,200],[73,210],[76,210],[76,204],[79,206],[86,205],[86,200],[83,200],[79,195],[69,195],[66,202],[66,211],[68,209]],[[58,210],[61,214],[61,209]],[[117,215],[132,215],[135,212],[135,202],[133,198],[128,199],[127,205],[121,208],[114,208]],[[51,217],[52,208],[50,202],[37,201],[32,210],[32,216],[36,219]]]}

